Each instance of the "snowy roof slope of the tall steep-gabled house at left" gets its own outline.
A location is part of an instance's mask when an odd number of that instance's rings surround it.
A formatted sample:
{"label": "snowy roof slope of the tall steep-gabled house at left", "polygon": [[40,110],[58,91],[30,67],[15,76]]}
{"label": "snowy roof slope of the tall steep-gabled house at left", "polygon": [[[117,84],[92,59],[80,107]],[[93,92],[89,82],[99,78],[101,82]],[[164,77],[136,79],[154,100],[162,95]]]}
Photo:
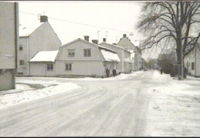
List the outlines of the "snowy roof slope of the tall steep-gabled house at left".
{"label": "snowy roof slope of the tall steep-gabled house at left", "polygon": [[20,25],[19,26],[19,36],[23,37],[23,36],[29,36],[33,31],[35,31],[40,25],[42,25],[43,22],[37,22],[37,23],[33,23],[31,25]]}

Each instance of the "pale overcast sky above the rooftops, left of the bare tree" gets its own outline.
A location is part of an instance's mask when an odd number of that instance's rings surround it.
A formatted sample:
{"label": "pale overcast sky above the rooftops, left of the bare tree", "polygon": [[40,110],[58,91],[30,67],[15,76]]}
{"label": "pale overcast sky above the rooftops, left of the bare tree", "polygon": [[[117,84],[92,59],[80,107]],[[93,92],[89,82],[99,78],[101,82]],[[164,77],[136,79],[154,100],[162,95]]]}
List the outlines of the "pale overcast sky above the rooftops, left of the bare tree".
{"label": "pale overcast sky above the rooftops, left of the bare tree", "polygon": [[[106,37],[107,42],[117,43],[124,33],[133,33],[129,38],[137,45],[143,38],[136,27],[142,5],[136,1],[22,1],[19,22],[28,27],[39,23],[39,15],[47,15],[62,44],[84,35],[90,40],[102,42]],[[143,56],[147,58],[149,53]]]}

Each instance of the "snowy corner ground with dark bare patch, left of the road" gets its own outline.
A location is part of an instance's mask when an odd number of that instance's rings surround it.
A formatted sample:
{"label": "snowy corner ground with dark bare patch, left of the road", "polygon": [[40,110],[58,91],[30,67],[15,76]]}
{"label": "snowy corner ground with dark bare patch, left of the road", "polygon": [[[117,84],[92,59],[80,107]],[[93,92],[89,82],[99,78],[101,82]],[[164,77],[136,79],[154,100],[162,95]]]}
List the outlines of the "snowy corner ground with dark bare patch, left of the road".
{"label": "snowy corner ground with dark bare patch, left of the road", "polygon": [[[72,82],[19,81],[16,89],[0,92],[0,109],[80,88]],[[37,84],[37,85],[36,85]]]}

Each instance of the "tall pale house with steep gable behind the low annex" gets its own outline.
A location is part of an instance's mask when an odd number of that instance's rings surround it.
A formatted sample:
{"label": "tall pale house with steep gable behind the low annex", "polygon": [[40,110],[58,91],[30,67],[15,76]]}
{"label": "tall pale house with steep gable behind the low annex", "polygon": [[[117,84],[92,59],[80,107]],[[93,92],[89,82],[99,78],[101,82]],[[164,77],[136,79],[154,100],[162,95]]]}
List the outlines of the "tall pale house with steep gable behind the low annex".
{"label": "tall pale house with steep gable behind the low annex", "polygon": [[19,27],[18,68],[19,75],[30,75],[30,59],[40,51],[58,50],[61,41],[48,22],[47,16],[40,16],[40,22]]}

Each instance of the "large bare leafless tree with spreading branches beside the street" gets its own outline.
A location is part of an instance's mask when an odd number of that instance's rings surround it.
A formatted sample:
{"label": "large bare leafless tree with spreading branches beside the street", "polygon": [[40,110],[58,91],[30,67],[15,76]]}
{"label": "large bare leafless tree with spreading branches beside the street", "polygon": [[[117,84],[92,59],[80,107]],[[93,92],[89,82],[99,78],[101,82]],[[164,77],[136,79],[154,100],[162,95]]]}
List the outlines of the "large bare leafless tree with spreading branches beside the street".
{"label": "large bare leafless tree with spreading branches beside the street", "polygon": [[184,76],[184,56],[200,37],[200,3],[197,1],[147,2],[138,27],[146,34],[143,48],[155,45],[176,47],[178,76]]}

